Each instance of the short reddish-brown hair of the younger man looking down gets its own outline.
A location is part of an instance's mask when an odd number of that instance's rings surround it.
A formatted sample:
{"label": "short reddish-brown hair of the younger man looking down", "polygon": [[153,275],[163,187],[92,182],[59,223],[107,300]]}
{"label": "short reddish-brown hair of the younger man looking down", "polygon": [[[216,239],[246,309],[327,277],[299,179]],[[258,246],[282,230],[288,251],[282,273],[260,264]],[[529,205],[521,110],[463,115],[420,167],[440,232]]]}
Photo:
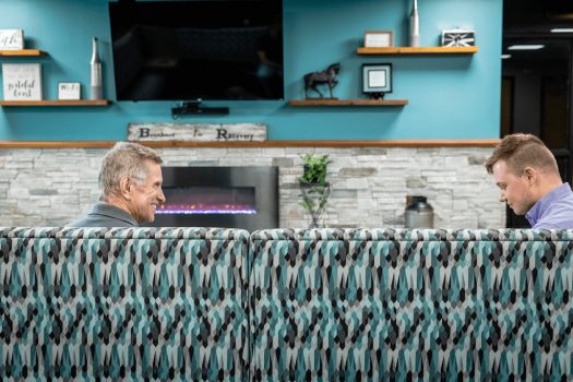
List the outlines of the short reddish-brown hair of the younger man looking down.
{"label": "short reddish-brown hair of the younger man looking down", "polygon": [[506,135],[493,150],[486,162],[486,169],[493,174],[493,165],[503,160],[508,168],[520,175],[526,167],[536,168],[542,172],[559,174],[557,160],[545,143],[532,134]]}

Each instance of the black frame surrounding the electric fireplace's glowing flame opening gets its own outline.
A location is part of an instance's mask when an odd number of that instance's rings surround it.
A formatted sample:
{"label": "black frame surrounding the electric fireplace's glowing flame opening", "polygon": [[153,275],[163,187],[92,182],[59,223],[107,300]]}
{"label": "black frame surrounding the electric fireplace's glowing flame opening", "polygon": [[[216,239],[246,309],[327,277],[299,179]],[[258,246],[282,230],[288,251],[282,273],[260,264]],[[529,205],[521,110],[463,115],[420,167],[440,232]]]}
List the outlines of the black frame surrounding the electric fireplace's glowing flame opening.
{"label": "black frame surrounding the electric fireplace's glowing flame opening", "polygon": [[255,230],[278,227],[278,167],[163,167],[163,188],[254,188],[256,214],[155,214],[151,227],[222,227]]}

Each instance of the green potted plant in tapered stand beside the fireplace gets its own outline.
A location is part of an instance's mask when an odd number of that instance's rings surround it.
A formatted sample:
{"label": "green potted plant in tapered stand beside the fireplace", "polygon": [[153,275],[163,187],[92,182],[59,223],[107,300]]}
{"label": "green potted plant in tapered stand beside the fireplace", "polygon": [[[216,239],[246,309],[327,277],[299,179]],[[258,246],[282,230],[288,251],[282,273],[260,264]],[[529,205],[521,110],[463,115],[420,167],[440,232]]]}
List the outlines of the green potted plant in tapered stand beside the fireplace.
{"label": "green potted plant in tapered stand beside the fireplace", "polygon": [[310,214],[310,228],[319,227],[319,218],[326,210],[331,184],[326,182],[329,155],[305,154],[301,156],[303,172],[299,178],[302,201],[300,205]]}

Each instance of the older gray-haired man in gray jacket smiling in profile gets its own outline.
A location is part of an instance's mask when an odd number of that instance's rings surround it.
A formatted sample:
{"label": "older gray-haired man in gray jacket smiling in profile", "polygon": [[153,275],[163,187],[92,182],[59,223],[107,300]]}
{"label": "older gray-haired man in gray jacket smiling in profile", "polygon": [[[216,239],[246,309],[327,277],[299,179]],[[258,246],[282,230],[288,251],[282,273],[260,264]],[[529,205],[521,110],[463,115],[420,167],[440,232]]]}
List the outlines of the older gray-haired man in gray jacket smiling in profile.
{"label": "older gray-haired man in gray jacket smiling in profile", "polygon": [[99,170],[99,203],[68,227],[138,227],[155,219],[165,203],[162,158],[136,143],[118,142],[104,157]]}

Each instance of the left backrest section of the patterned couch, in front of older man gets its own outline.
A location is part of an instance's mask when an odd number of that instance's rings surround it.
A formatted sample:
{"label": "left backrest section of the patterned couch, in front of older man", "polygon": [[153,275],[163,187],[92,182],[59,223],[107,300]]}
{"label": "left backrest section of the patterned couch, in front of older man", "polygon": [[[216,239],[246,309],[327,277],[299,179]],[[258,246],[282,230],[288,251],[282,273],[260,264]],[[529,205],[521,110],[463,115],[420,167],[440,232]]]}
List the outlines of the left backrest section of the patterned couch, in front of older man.
{"label": "left backrest section of the patterned couch, in front of older man", "polygon": [[0,375],[244,381],[248,239],[0,228]]}

